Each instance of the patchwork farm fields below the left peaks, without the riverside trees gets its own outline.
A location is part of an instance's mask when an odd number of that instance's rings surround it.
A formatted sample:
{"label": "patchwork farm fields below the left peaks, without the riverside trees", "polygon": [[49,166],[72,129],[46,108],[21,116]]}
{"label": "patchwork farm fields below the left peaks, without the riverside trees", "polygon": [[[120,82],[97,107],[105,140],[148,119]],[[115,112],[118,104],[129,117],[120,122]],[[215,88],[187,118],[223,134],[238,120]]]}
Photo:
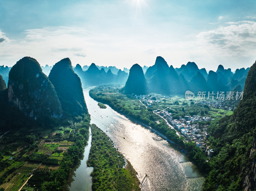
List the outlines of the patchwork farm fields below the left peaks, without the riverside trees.
{"label": "patchwork farm fields below the left peaks, without the riverside trees", "polygon": [[[29,177],[31,179],[24,189],[32,191],[40,188],[44,182],[34,183],[38,172],[49,173],[48,176],[54,171],[57,173],[63,158],[68,155],[68,149],[74,147],[76,137],[81,136],[80,132],[86,143],[88,129],[88,122],[80,118],[80,121],[68,121],[68,125],[54,129],[10,130],[0,139],[0,145],[5,145],[0,147],[0,153],[3,153],[0,161],[0,190],[19,190]],[[0,134],[4,132],[0,131]]]}

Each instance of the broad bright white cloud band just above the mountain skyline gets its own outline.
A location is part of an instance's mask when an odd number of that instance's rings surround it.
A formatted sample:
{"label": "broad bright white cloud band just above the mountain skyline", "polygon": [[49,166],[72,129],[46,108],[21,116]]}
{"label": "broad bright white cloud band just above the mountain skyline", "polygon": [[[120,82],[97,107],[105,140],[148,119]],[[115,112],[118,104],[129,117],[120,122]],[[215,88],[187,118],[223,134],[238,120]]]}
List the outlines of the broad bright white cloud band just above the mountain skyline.
{"label": "broad bright white cloud band just above the mountain skyline", "polygon": [[241,68],[241,63],[242,67],[249,67],[255,60],[256,22],[238,21],[225,25],[198,33],[193,40],[175,43],[166,39],[152,41],[146,34],[140,40],[140,36],[92,33],[82,27],[29,29],[20,40],[0,43],[0,61],[1,65],[12,66],[22,57],[31,56],[41,65],[53,65],[69,57],[73,66],[94,62],[122,69],[135,63],[151,66],[156,56],[162,56],[173,67],[188,61],[207,70],[217,70],[219,64],[232,70]]}

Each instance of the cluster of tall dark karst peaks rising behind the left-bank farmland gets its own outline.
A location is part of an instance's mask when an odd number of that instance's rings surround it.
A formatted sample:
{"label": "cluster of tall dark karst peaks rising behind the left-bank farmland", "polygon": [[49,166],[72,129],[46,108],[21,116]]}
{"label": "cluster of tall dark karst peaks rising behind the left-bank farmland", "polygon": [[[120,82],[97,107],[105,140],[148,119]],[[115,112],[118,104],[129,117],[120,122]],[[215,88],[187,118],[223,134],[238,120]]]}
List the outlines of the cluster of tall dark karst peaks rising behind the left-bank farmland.
{"label": "cluster of tall dark karst peaks rising behind the left-bank farmland", "polygon": [[20,59],[11,68],[8,87],[0,76],[0,129],[33,123],[52,127],[63,114],[74,117],[88,113],[80,78],[68,58],[54,65],[49,78],[31,57]]}

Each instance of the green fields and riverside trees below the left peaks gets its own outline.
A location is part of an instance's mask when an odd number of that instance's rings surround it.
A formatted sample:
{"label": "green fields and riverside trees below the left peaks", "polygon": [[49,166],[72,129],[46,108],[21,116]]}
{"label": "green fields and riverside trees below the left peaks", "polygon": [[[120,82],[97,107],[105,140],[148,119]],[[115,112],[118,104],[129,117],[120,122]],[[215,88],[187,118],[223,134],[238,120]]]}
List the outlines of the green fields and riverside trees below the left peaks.
{"label": "green fields and riverside trees below the left peaks", "polygon": [[[18,190],[33,173],[26,190],[62,190],[71,167],[84,152],[89,123],[90,116],[83,115],[61,121],[56,130],[40,126],[11,129],[0,140],[4,145],[0,150],[4,153],[0,161],[0,188]],[[63,135],[56,133],[58,129],[63,130]]]}

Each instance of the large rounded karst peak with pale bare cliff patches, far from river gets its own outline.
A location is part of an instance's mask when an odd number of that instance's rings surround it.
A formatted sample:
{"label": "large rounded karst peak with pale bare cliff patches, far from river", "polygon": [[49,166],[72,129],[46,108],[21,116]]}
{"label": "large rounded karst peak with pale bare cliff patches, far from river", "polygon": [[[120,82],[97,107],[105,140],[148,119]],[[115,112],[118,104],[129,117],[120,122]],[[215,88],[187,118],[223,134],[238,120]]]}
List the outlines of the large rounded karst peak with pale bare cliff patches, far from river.
{"label": "large rounded karst peak with pale bare cliff patches, far from river", "polygon": [[9,105],[31,118],[60,118],[62,109],[56,91],[39,63],[31,57],[20,59],[10,70]]}

